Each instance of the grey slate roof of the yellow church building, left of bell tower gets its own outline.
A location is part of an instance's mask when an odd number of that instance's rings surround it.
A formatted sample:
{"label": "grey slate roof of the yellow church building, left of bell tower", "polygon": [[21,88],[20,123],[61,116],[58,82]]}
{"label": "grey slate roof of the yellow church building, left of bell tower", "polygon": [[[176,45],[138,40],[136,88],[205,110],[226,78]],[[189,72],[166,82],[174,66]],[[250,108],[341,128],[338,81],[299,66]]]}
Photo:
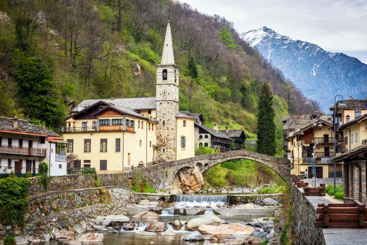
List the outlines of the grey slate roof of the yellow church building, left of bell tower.
{"label": "grey slate roof of the yellow church building, left of bell tower", "polygon": [[133,110],[149,110],[156,108],[156,98],[105,98],[105,99],[85,99],[73,108],[72,113],[83,110],[85,107],[91,106],[98,101],[103,101],[111,105],[123,108],[127,107]]}

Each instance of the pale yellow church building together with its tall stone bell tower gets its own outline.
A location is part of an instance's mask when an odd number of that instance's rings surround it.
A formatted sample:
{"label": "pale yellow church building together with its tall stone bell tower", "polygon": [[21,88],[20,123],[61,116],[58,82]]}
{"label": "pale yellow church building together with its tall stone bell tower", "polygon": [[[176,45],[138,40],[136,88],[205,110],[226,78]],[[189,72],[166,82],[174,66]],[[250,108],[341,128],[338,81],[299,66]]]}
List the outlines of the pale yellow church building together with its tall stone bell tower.
{"label": "pale yellow church building together with its tall stone bell tower", "polygon": [[195,156],[195,118],[178,111],[178,78],[168,23],[155,98],[83,100],[65,119],[75,168],[122,172]]}

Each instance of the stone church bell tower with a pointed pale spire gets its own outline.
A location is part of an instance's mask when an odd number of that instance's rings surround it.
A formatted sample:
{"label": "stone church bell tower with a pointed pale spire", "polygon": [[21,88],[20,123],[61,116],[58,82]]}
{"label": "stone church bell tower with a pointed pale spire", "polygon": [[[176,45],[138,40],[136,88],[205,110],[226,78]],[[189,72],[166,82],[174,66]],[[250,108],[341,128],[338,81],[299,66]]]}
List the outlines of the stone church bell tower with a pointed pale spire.
{"label": "stone church bell tower with a pointed pale spire", "polygon": [[165,161],[174,161],[176,160],[179,68],[174,65],[170,22],[167,24],[161,64],[156,68],[157,157]]}

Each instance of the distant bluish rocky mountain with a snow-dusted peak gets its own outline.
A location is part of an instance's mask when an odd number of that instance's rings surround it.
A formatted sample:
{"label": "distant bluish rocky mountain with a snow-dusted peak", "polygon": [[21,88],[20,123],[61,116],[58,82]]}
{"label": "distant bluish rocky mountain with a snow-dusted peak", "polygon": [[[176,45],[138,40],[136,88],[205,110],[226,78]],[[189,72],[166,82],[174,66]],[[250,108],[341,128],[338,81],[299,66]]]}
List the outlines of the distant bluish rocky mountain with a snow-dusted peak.
{"label": "distant bluish rocky mountain with a snow-dusted peak", "polygon": [[324,113],[330,113],[338,94],[344,99],[367,97],[367,65],[356,58],[292,40],[266,26],[241,36],[293,81],[303,95],[318,101]]}

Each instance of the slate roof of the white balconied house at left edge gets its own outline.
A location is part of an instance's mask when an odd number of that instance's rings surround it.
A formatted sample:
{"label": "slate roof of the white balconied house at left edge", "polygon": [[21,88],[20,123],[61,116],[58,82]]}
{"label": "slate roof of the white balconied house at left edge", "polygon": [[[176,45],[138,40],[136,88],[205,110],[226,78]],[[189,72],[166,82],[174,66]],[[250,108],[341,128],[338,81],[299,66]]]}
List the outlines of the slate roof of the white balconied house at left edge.
{"label": "slate roof of the white balconied house at left edge", "polygon": [[0,117],[0,132],[13,132],[20,134],[35,134],[52,137],[60,137],[51,130],[38,125],[28,123],[26,120],[18,119],[18,128],[14,128],[14,118]]}

